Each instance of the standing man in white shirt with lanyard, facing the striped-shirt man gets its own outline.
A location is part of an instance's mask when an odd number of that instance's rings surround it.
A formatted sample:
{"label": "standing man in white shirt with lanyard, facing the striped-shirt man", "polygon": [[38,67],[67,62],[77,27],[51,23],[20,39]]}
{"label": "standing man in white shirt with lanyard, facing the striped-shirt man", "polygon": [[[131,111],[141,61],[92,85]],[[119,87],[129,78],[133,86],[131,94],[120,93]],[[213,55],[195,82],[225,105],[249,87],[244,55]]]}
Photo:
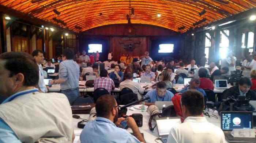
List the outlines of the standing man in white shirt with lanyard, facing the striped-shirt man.
{"label": "standing man in white shirt with lanyard, facing the striped-shirt man", "polygon": [[36,88],[38,88],[39,92],[47,92],[47,88],[45,86],[44,83],[44,73],[43,73],[43,68],[42,68],[42,63],[44,63],[44,52],[36,49],[33,51],[32,56],[35,58],[35,61],[37,62],[38,65],[38,71],[39,71],[39,80],[38,80],[38,84],[35,86]]}

